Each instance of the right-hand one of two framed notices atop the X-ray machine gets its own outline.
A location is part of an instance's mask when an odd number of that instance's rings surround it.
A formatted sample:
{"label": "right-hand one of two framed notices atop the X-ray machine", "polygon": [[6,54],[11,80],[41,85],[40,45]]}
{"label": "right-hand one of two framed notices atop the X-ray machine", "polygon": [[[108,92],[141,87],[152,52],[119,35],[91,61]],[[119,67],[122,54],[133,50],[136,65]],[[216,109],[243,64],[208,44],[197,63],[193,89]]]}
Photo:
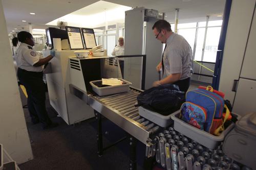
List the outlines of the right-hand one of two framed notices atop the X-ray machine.
{"label": "right-hand one of two framed notices atop the X-ray machine", "polygon": [[90,49],[96,46],[97,44],[93,29],[81,28],[81,30],[84,44],[86,44],[86,49]]}

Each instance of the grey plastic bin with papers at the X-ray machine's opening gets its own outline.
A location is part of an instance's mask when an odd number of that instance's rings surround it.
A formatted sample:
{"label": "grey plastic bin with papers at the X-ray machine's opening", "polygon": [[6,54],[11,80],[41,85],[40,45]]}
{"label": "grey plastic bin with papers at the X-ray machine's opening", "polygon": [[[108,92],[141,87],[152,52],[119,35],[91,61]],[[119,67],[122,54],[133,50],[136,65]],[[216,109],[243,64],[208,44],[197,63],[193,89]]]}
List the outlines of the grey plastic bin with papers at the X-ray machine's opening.
{"label": "grey plastic bin with papers at the X-ray machine's opening", "polygon": [[107,86],[103,85],[99,87],[99,84],[101,84],[101,80],[91,81],[90,84],[93,88],[93,91],[96,92],[98,95],[109,95],[109,94],[115,94],[115,93],[121,93],[126,92],[129,90],[129,87],[132,83],[119,79],[123,81],[124,84],[116,85],[116,86]]}

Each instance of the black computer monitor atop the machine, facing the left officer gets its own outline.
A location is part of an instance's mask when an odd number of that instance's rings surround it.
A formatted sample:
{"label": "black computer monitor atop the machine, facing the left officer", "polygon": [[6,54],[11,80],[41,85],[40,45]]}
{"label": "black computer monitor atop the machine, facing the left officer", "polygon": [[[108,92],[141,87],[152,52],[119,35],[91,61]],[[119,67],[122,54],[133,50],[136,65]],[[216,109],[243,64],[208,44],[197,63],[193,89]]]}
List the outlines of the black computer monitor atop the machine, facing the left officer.
{"label": "black computer monitor atop the machine, facing the left officer", "polygon": [[46,29],[47,43],[48,46],[53,48],[53,38],[68,39],[66,30],[49,27]]}

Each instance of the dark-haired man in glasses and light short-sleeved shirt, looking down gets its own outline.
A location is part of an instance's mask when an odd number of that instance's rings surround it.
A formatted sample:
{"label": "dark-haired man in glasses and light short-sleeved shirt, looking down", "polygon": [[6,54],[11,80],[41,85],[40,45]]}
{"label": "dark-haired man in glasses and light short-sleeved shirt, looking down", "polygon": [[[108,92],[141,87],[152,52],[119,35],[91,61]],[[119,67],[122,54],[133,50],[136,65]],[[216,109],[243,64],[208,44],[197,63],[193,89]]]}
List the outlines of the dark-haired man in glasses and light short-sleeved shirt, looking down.
{"label": "dark-haired man in glasses and light short-sleeved shirt, looking down", "polygon": [[153,26],[156,39],[165,43],[165,48],[156,69],[165,73],[166,77],[153,83],[153,86],[176,84],[181,91],[187,91],[192,71],[192,50],[184,37],[172,31],[169,22],[158,20]]}

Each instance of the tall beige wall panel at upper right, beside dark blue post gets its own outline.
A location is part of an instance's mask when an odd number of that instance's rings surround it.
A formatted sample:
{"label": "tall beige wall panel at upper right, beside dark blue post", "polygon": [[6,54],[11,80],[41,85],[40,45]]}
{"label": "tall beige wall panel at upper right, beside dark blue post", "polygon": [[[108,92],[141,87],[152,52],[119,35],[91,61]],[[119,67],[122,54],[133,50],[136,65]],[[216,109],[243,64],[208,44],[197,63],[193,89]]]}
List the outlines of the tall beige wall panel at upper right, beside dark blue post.
{"label": "tall beige wall panel at upper right, beside dark blue post", "polygon": [[231,91],[233,81],[240,77],[254,6],[255,0],[233,0],[231,4],[219,86],[231,103],[236,95]]}

